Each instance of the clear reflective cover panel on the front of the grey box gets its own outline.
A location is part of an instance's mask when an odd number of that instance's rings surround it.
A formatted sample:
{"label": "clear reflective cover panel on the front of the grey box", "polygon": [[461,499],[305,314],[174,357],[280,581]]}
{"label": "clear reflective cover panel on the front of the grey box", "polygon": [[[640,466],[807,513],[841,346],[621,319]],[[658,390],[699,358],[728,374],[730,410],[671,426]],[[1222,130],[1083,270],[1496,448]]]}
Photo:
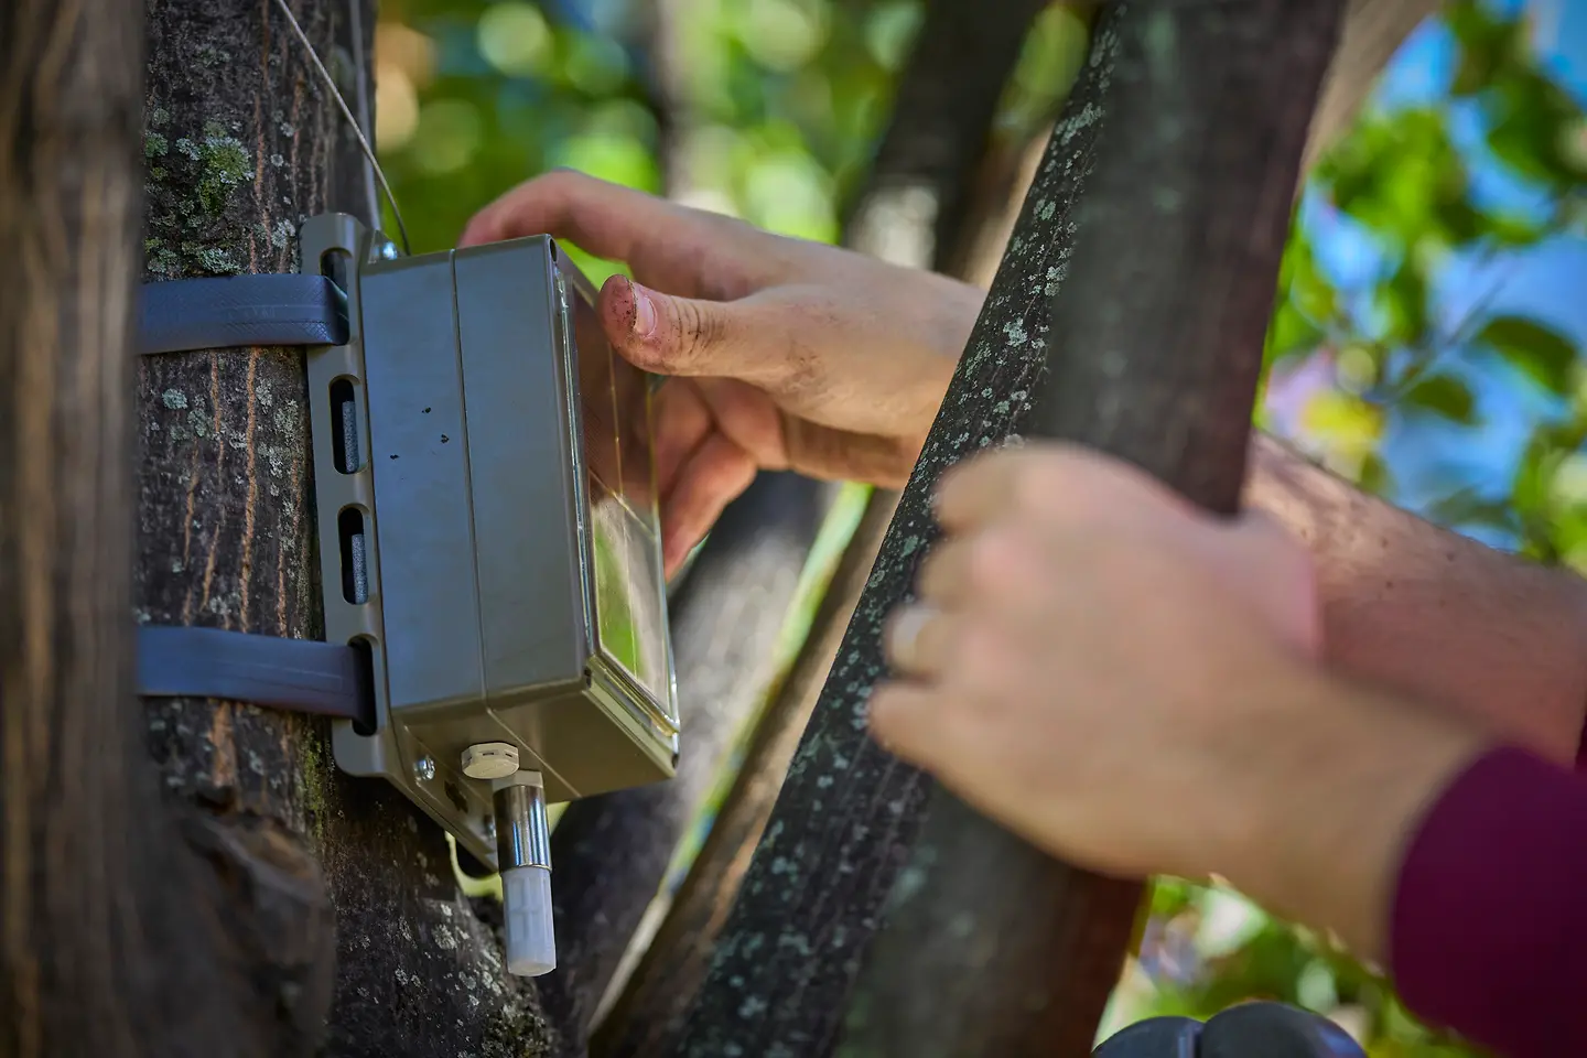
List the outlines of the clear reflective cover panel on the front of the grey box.
{"label": "clear reflective cover panel on the front of the grey box", "polygon": [[595,306],[568,284],[595,552],[597,649],[673,714],[651,389],[613,354]]}

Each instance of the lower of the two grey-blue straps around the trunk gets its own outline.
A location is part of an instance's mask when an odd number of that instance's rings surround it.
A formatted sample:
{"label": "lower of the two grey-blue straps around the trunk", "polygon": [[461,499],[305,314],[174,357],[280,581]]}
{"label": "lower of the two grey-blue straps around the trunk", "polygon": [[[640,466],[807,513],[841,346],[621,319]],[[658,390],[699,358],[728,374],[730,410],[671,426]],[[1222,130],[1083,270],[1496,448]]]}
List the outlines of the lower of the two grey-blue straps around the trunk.
{"label": "lower of the two grey-blue straps around the trunk", "polygon": [[138,693],[224,698],[373,723],[375,688],[352,647],[221,628],[138,628]]}

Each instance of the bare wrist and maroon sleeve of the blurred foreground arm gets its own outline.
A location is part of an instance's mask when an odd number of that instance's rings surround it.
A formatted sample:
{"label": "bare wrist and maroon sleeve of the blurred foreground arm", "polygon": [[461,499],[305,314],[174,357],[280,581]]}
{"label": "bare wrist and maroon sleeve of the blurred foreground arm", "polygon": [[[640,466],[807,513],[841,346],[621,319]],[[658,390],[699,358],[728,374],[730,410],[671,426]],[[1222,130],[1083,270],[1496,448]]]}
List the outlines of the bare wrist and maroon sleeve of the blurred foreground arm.
{"label": "bare wrist and maroon sleeve of the blurred foreground arm", "polygon": [[1587,1053],[1587,779],[1309,671],[1276,693],[1228,877],[1387,964],[1406,1004],[1508,1058]]}

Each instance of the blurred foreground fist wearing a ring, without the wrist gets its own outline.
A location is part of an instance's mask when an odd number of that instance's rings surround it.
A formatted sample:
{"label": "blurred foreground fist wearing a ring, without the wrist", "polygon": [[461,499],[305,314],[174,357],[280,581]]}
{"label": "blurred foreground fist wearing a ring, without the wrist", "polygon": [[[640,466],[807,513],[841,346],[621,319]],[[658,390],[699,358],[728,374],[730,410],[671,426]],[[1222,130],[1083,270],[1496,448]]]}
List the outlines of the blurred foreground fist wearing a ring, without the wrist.
{"label": "blurred foreground fist wearing a ring, without the wrist", "polygon": [[936,511],[876,736],[1073,861],[1212,869],[1251,836],[1239,776],[1320,654],[1306,550],[1066,446],[966,460]]}

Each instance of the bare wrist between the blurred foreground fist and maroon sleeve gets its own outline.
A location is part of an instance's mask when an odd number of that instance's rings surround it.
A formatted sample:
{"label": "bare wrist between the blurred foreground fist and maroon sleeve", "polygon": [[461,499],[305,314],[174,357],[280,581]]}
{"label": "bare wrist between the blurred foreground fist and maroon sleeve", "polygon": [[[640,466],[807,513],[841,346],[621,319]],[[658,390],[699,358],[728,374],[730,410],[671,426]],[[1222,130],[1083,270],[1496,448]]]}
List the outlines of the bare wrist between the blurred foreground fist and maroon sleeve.
{"label": "bare wrist between the blurred foreground fist and maroon sleeve", "polygon": [[1408,844],[1451,782],[1490,741],[1443,712],[1316,673],[1301,707],[1247,790],[1252,823],[1230,880],[1273,912],[1338,934],[1358,956],[1387,952]]}

